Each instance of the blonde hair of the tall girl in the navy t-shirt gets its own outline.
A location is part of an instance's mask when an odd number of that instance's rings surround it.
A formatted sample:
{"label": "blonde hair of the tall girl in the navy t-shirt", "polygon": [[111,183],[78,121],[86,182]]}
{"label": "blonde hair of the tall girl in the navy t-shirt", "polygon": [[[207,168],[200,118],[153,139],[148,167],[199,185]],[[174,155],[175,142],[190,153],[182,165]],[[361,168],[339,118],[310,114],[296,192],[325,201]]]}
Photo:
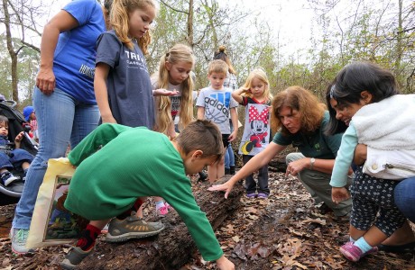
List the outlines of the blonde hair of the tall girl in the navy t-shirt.
{"label": "blonde hair of the tall girl in the navy t-shirt", "polygon": [[[156,8],[153,0],[114,0],[112,4],[109,22],[116,36],[129,49],[134,49],[134,43],[128,37],[130,20],[128,14],[134,12],[136,9],[145,11],[149,6],[154,9]],[[147,54],[147,49],[151,41],[150,31],[146,31],[143,37],[137,40],[138,46],[143,50],[144,55]]]}

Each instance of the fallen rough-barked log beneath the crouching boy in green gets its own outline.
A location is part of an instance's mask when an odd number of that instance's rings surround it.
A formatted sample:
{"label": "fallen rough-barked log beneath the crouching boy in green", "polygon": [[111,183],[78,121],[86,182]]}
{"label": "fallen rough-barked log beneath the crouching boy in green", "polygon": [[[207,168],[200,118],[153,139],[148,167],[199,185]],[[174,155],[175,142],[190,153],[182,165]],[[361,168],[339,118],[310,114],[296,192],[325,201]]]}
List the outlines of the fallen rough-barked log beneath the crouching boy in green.
{"label": "fallen rough-barked log beneath the crouching boy in green", "polygon": [[[240,207],[244,188],[242,183],[235,184],[233,192],[225,199],[224,193],[209,192],[208,186],[210,184],[201,183],[194,188],[194,194],[213,229],[217,229]],[[161,221],[166,229],[152,238],[120,244],[99,240],[95,252],[79,265],[79,269],[179,269],[189,262],[197,247],[177,212],[169,211]]]}

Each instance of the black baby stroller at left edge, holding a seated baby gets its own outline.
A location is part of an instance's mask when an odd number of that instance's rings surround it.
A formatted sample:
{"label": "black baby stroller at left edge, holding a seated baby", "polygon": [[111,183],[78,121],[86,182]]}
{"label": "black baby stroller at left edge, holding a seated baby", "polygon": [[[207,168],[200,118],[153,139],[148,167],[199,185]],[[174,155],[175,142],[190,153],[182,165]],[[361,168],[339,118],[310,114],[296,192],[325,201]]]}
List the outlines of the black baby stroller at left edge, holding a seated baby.
{"label": "black baby stroller at left edge, holding a seated baby", "polygon": [[[29,136],[28,132],[31,130],[31,126],[25,121],[22,112],[14,108],[15,105],[16,103],[14,101],[5,100],[0,94],[0,114],[9,120],[9,140],[13,142],[17,134],[24,131],[21,148],[35,156],[38,150],[38,144]],[[14,148],[14,145],[11,147]],[[22,169],[14,169],[12,173],[20,176],[21,179],[23,178]],[[23,184],[23,181],[15,181],[5,186],[0,181],[0,205],[18,202],[23,192]]]}

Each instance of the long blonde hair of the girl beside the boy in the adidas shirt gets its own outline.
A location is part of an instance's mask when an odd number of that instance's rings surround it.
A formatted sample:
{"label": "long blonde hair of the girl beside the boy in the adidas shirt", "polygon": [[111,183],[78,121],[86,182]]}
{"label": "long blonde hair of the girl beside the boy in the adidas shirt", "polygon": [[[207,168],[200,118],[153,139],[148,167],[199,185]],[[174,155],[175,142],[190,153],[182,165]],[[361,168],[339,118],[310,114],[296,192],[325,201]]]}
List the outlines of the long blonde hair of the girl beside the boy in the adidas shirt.
{"label": "long blonde hair of the girl beside the boy in the adidas shirt", "polygon": [[[195,56],[193,54],[193,50],[184,44],[176,44],[171,49],[169,49],[169,51],[166,54],[162,55],[160,58],[157,88],[167,89],[169,86],[169,70],[166,68],[167,62],[171,63],[171,65],[175,65],[179,62],[185,62],[191,64],[193,67],[195,64]],[[188,76],[188,78],[181,83],[181,86],[179,130],[184,129],[193,119],[194,83],[192,77]],[[159,111],[157,114],[157,126],[169,126],[169,123],[166,123],[165,121],[172,121],[171,98],[168,96],[156,96],[156,104],[159,110],[165,110]],[[169,114],[170,117],[166,114]]]}

